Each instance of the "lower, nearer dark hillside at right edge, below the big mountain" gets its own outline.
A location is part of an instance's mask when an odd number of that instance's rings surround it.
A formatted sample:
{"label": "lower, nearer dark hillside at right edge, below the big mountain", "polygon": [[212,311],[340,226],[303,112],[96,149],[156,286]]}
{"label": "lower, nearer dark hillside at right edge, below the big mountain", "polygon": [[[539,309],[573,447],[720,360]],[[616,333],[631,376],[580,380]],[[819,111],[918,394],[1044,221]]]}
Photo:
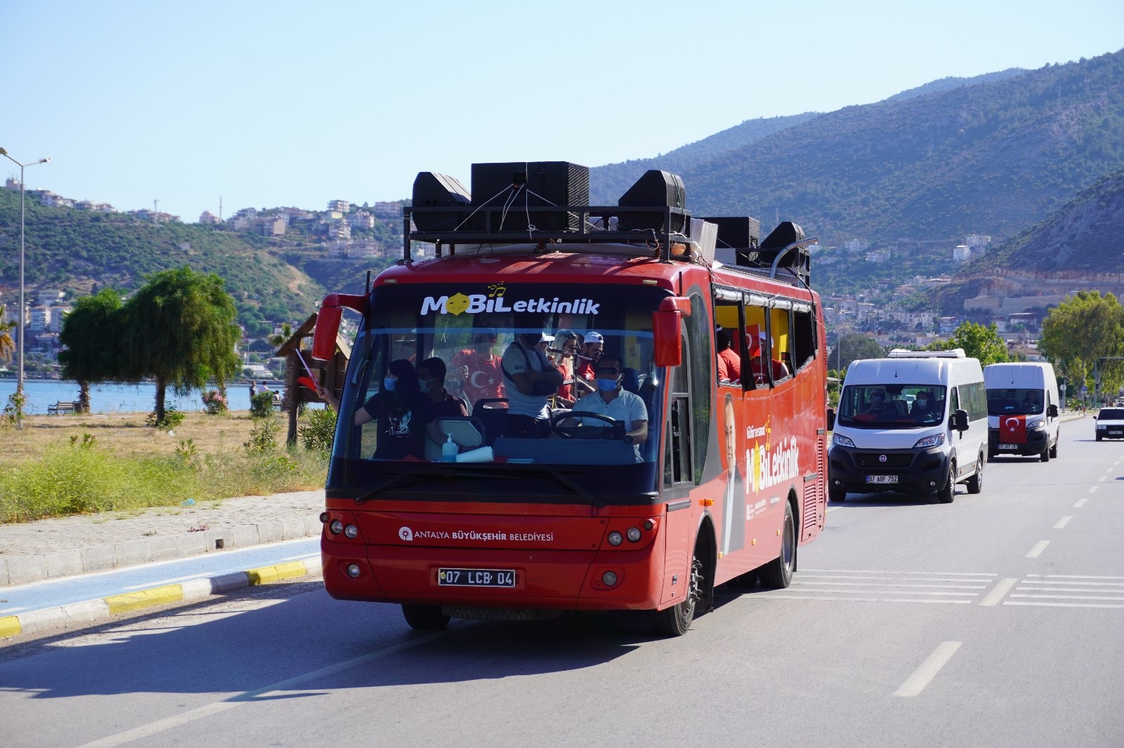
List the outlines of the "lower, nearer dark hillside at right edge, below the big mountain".
{"label": "lower, nearer dark hillside at right edge, below the big mountain", "polygon": [[[946,313],[968,298],[1124,292],[1124,168],[1082,190],[1046,220],[973,261],[940,290]],[[1044,305],[1044,304],[1043,304]]]}

